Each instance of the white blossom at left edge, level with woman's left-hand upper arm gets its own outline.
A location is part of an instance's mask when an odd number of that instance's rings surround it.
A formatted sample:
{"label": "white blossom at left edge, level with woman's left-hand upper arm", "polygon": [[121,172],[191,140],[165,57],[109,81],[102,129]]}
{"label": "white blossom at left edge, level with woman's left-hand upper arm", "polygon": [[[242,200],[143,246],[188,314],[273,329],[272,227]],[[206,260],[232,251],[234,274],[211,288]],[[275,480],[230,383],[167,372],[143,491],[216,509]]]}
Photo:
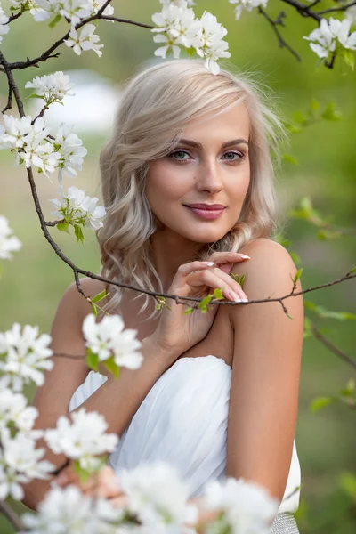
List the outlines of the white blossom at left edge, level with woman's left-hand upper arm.
{"label": "white blossom at left edge, level with woman's left-hand upper arm", "polygon": [[31,381],[36,385],[44,384],[44,369],[53,368],[50,360],[53,351],[48,348],[52,338],[48,334],[38,336],[38,327],[25,325],[23,332],[19,323],[14,323],[11,330],[0,332],[0,387],[12,386],[14,392],[20,392],[24,384]]}

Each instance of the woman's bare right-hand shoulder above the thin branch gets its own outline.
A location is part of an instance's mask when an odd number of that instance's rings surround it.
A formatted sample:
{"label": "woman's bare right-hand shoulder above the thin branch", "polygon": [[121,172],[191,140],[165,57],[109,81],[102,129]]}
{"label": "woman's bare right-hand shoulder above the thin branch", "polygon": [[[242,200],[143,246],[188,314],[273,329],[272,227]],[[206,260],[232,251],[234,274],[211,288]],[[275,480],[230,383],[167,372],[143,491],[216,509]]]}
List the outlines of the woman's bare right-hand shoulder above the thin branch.
{"label": "woman's bare right-hand shoulder above the thin branch", "polygon": [[[285,247],[272,239],[258,238],[241,247],[239,252],[250,256],[250,259],[235,263],[231,272],[239,276],[246,275],[243,288],[249,300],[276,298],[292,291],[297,268]],[[295,292],[301,289],[299,279]],[[303,298],[300,295],[286,300],[303,301]]]}

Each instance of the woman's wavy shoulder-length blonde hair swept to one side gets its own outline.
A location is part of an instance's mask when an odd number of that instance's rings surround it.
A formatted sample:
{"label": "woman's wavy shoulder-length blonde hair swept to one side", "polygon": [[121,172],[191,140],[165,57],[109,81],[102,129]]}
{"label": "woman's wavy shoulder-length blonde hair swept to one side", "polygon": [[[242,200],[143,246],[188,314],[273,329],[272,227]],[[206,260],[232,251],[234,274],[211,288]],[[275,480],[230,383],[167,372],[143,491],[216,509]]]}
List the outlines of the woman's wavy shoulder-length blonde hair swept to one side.
{"label": "woman's wavy shoulder-length blonde hair swept to one side", "polygon": [[[262,85],[261,85],[262,86]],[[243,101],[250,121],[251,179],[239,219],[222,239],[202,246],[193,259],[214,251],[239,251],[251,239],[277,230],[272,157],[287,135],[265,91],[247,74],[211,74],[200,60],[173,60],[144,69],[125,85],[109,142],[101,149],[101,187],[107,216],[97,232],[101,275],[163,293],[151,261],[150,236],[159,228],[145,196],[150,161],[166,156],[192,119],[224,112]],[[156,280],[154,287],[152,278]],[[110,286],[107,312],[117,312],[125,289]],[[140,312],[150,295],[144,297]],[[154,315],[156,310],[153,312]]]}

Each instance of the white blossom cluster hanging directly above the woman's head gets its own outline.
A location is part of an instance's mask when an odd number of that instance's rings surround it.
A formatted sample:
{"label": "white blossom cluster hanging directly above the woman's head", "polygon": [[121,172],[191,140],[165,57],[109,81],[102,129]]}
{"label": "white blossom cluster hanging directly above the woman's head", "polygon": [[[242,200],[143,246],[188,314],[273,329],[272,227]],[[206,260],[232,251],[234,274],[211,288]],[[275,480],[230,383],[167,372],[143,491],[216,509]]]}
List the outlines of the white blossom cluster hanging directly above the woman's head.
{"label": "white blossom cluster hanging directly above the woman's head", "polygon": [[166,54],[172,52],[174,58],[179,58],[180,47],[184,46],[204,58],[206,68],[218,74],[220,68],[216,61],[231,56],[227,51],[229,45],[223,40],[227,29],[209,12],[204,12],[200,19],[196,18],[184,0],[161,3],[162,11],[152,15],[155,28],[151,31],[157,34],[153,40],[163,44],[155,51],[155,55],[166,58]]}

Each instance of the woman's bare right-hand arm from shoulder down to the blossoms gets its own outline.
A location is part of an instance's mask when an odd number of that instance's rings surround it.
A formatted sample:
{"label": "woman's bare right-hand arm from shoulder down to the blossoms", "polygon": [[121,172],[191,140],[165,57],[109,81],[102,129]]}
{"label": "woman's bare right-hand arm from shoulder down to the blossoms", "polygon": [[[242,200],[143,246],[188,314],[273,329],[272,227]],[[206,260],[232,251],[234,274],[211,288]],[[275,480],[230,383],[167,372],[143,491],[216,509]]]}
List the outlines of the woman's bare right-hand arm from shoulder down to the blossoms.
{"label": "woman's bare right-hand arm from shoulder down to the blossoms", "polygon": [[[295,264],[270,239],[255,239],[242,252],[249,300],[291,292]],[[301,290],[298,280],[295,292]],[[282,500],[292,457],[303,349],[303,295],[280,303],[231,307],[234,359],[228,423],[227,475],[255,481]]]}

